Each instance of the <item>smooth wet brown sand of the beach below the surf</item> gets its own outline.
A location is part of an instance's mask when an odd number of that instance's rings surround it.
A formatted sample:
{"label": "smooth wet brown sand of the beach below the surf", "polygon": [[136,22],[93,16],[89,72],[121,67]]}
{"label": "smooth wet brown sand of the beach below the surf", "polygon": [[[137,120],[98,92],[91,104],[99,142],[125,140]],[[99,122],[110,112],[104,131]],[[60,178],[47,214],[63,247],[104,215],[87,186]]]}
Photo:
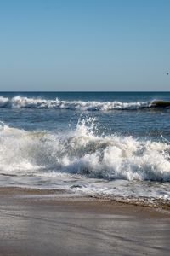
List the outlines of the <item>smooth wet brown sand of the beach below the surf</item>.
{"label": "smooth wet brown sand of the beach below the surf", "polygon": [[0,255],[170,255],[170,212],[0,188]]}

